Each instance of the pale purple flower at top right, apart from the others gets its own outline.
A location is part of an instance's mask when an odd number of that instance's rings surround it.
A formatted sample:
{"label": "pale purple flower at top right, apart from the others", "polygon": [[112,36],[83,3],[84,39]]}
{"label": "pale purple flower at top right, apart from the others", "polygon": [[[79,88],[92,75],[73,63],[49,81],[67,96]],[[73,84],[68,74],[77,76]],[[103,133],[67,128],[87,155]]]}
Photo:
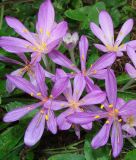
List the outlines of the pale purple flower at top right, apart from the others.
{"label": "pale purple flower at top right, apart from the others", "polygon": [[[131,32],[133,28],[133,19],[128,19],[122,26],[116,41],[114,41],[114,26],[112,18],[106,11],[101,11],[99,14],[100,27],[95,23],[90,23],[90,28],[93,34],[102,41],[104,45],[95,44],[95,47],[103,52],[114,52],[116,56],[123,56],[123,52],[126,51],[126,46],[129,44],[136,48],[136,41],[129,41],[125,44],[121,44],[123,39]],[[121,45],[120,45],[121,44]]]}

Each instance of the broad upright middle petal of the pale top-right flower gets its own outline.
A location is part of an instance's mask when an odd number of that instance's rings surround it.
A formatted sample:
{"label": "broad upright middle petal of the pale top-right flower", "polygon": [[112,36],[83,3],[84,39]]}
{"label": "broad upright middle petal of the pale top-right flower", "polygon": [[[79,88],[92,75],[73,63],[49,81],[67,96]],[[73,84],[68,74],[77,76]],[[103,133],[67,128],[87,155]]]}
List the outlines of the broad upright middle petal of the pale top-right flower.
{"label": "broad upright middle petal of the pale top-right flower", "polygon": [[106,11],[101,11],[99,14],[99,23],[101,29],[110,45],[114,43],[114,27],[111,16]]}

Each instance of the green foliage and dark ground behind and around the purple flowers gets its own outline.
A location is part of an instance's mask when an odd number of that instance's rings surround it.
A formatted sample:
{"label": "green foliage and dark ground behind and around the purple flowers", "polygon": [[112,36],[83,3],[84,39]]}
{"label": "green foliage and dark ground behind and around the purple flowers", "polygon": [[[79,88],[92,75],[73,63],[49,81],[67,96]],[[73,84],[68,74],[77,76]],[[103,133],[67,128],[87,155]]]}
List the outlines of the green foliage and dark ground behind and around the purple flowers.
{"label": "green foliage and dark ground behind and around the purple flowers", "polygon": [[[4,20],[6,15],[17,17],[34,32],[37,12],[42,2],[43,0],[1,0],[0,36],[18,36],[7,26]],[[115,34],[128,18],[134,18],[134,21],[136,21],[135,0],[53,0],[52,2],[56,11],[56,21],[65,19],[69,24],[69,32],[77,31],[79,35],[87,35],[90,42],[87,66],[90,66],[102,54],[93,47],[93,43],[98,40],[89,29],[90,21],[98,23],[98,14],[101,10],[107,10],[111,14],[116,29]],[[136,24],[133,32],[127,36],[125,41],[129,39],[136,39]],[[69,56],[63,44],[60,50]],[[0,49],[0,54],[17,59],[15,55],[2,49]],[[79,59],[78,47],[75,50],[75,56],[76,59]],[[127,101],[136,98],[136,86],[133,84],[126,91],[121,90],[122,86],[130,80],[124,71],[126,62],[129,62],[126,56],[117,59],[113,69],[117,75],[118,95]],[[79,60],[77,60],[77,65],[79,65]],[[77,140],[73,130],[59,132],[57,135],[45,131],[42,140],[36,146],[33,148],[25,146],[23,143],[24,132],[35,112],[30,113],[14,124],[2,122],[2,117],[6,112],[34,101],[18,90],[10,95],[6,92],[5,74],[12,72],[17,67],[0,62],[0,160],[112,159],[110,144],[97,150],[90,147],[90,141],[97,130],[100,129],[100,124],[96,124],[97,128],[93,128],[91,132],[81,131],[81,140]],[[49,81],[47,83],[50,85]],[[101,87],[104,86],[103,82],[99,84]],[[123,151],[117,160],[135,160],[135,147],[128,140],[125,140]]]}

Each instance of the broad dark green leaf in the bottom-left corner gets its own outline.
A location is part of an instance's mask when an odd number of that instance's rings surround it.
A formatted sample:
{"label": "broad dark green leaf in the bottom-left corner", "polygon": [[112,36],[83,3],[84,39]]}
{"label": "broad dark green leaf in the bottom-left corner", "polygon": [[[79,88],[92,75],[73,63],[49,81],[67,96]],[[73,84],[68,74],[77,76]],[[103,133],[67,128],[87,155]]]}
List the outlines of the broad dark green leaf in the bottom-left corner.
{"label": "broad dark green leaf in the bottom-left corner", "polygon": [[0,159],[4,159],[23,137],[24,127],[16,125],[8,128],[0,135]]}

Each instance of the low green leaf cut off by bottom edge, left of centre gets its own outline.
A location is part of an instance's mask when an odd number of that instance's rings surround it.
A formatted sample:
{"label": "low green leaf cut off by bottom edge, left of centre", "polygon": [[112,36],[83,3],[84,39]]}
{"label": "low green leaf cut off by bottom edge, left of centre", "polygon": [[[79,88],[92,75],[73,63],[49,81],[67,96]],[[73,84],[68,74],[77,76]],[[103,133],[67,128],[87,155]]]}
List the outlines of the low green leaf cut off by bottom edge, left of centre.
{"label": "low green leaf cut off by bottom edge, left of centre", "polygon": [[48,160],[85,160],[85,157],[81,154],[58,154],[51,156]]}

